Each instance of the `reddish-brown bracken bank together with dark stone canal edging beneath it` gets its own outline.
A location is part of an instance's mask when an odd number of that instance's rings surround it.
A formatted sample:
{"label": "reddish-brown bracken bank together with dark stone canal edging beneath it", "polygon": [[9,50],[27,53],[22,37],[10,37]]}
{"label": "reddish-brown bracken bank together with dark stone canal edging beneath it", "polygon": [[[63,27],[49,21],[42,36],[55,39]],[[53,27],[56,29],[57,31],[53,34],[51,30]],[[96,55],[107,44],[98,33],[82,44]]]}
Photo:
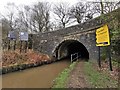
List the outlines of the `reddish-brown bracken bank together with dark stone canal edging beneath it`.
{"label": "reddish-brown bracken bank together with dark stone canal edging beneath it", "polygon": [[47,55],[33,51],[27,53],[5,51],[2,56],[2,69],[0,70],[2,73],[0,74],[37,67],[51,62],[51,59]]}

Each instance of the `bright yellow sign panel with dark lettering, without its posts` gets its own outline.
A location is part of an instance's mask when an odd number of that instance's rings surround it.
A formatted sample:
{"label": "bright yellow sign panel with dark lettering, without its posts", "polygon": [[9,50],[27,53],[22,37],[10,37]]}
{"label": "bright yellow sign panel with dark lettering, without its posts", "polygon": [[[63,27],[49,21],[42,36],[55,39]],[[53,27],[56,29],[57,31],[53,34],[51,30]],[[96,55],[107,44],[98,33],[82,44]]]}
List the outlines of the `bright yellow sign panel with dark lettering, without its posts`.
{"label": "bright yellow sign panel with dark lettering, without its posts", "polygon": [[96,30],[96,46],[110,45],[108,26],[104,25]]}

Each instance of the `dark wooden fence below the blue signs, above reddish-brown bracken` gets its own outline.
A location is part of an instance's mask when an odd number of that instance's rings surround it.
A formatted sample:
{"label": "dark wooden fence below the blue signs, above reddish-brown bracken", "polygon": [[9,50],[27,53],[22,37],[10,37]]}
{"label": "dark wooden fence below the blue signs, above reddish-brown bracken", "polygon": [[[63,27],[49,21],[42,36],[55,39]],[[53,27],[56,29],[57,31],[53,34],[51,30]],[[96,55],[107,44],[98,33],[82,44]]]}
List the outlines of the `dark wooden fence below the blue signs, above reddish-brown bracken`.
{"label": "dark wooden fence below the blue signs, above reddish-brown bracken", "polygon": [[2,47],[3,47],[3,51],[6,50],[15,51],[17,49],[20,50],[20,52],[22,51],[27,52],[27,49],[33,48],[32,34],[29,34],[28,41],[22,41],[19,39],[11,40],[9,38],[2,39]]}

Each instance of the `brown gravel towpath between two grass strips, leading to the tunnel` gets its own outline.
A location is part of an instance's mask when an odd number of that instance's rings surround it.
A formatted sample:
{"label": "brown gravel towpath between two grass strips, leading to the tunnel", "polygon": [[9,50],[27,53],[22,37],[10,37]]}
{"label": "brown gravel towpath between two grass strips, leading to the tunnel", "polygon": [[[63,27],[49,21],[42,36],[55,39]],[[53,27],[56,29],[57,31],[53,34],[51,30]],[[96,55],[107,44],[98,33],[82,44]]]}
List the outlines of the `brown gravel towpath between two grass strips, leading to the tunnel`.
{"label": "brown gravel towpath between two grass strips, leading to the tunnel", "polygon": [[67,88],[89,88],[89,85],[85,79],[84,75],[84,61],[80,61],[74,70],[71,72],[68,83],[66,85]]}

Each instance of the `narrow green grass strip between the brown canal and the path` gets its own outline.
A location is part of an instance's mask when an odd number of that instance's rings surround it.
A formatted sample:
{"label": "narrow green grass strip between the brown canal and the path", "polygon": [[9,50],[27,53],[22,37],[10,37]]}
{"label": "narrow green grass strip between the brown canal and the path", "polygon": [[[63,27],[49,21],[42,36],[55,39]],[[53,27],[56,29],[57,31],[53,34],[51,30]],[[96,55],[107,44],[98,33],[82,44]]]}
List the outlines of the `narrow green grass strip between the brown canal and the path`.
{"label": "narrow green grass strip between the brown canal and the path", "polygon": [[58,77],[55,79],[55,83],[53,85],[54,88],[65,88],[65,85],[67,83],[68,76],[70,72],[74,69],[77,62],[73,62],[68,68],[66,68],[62,73],[58,75]]}

